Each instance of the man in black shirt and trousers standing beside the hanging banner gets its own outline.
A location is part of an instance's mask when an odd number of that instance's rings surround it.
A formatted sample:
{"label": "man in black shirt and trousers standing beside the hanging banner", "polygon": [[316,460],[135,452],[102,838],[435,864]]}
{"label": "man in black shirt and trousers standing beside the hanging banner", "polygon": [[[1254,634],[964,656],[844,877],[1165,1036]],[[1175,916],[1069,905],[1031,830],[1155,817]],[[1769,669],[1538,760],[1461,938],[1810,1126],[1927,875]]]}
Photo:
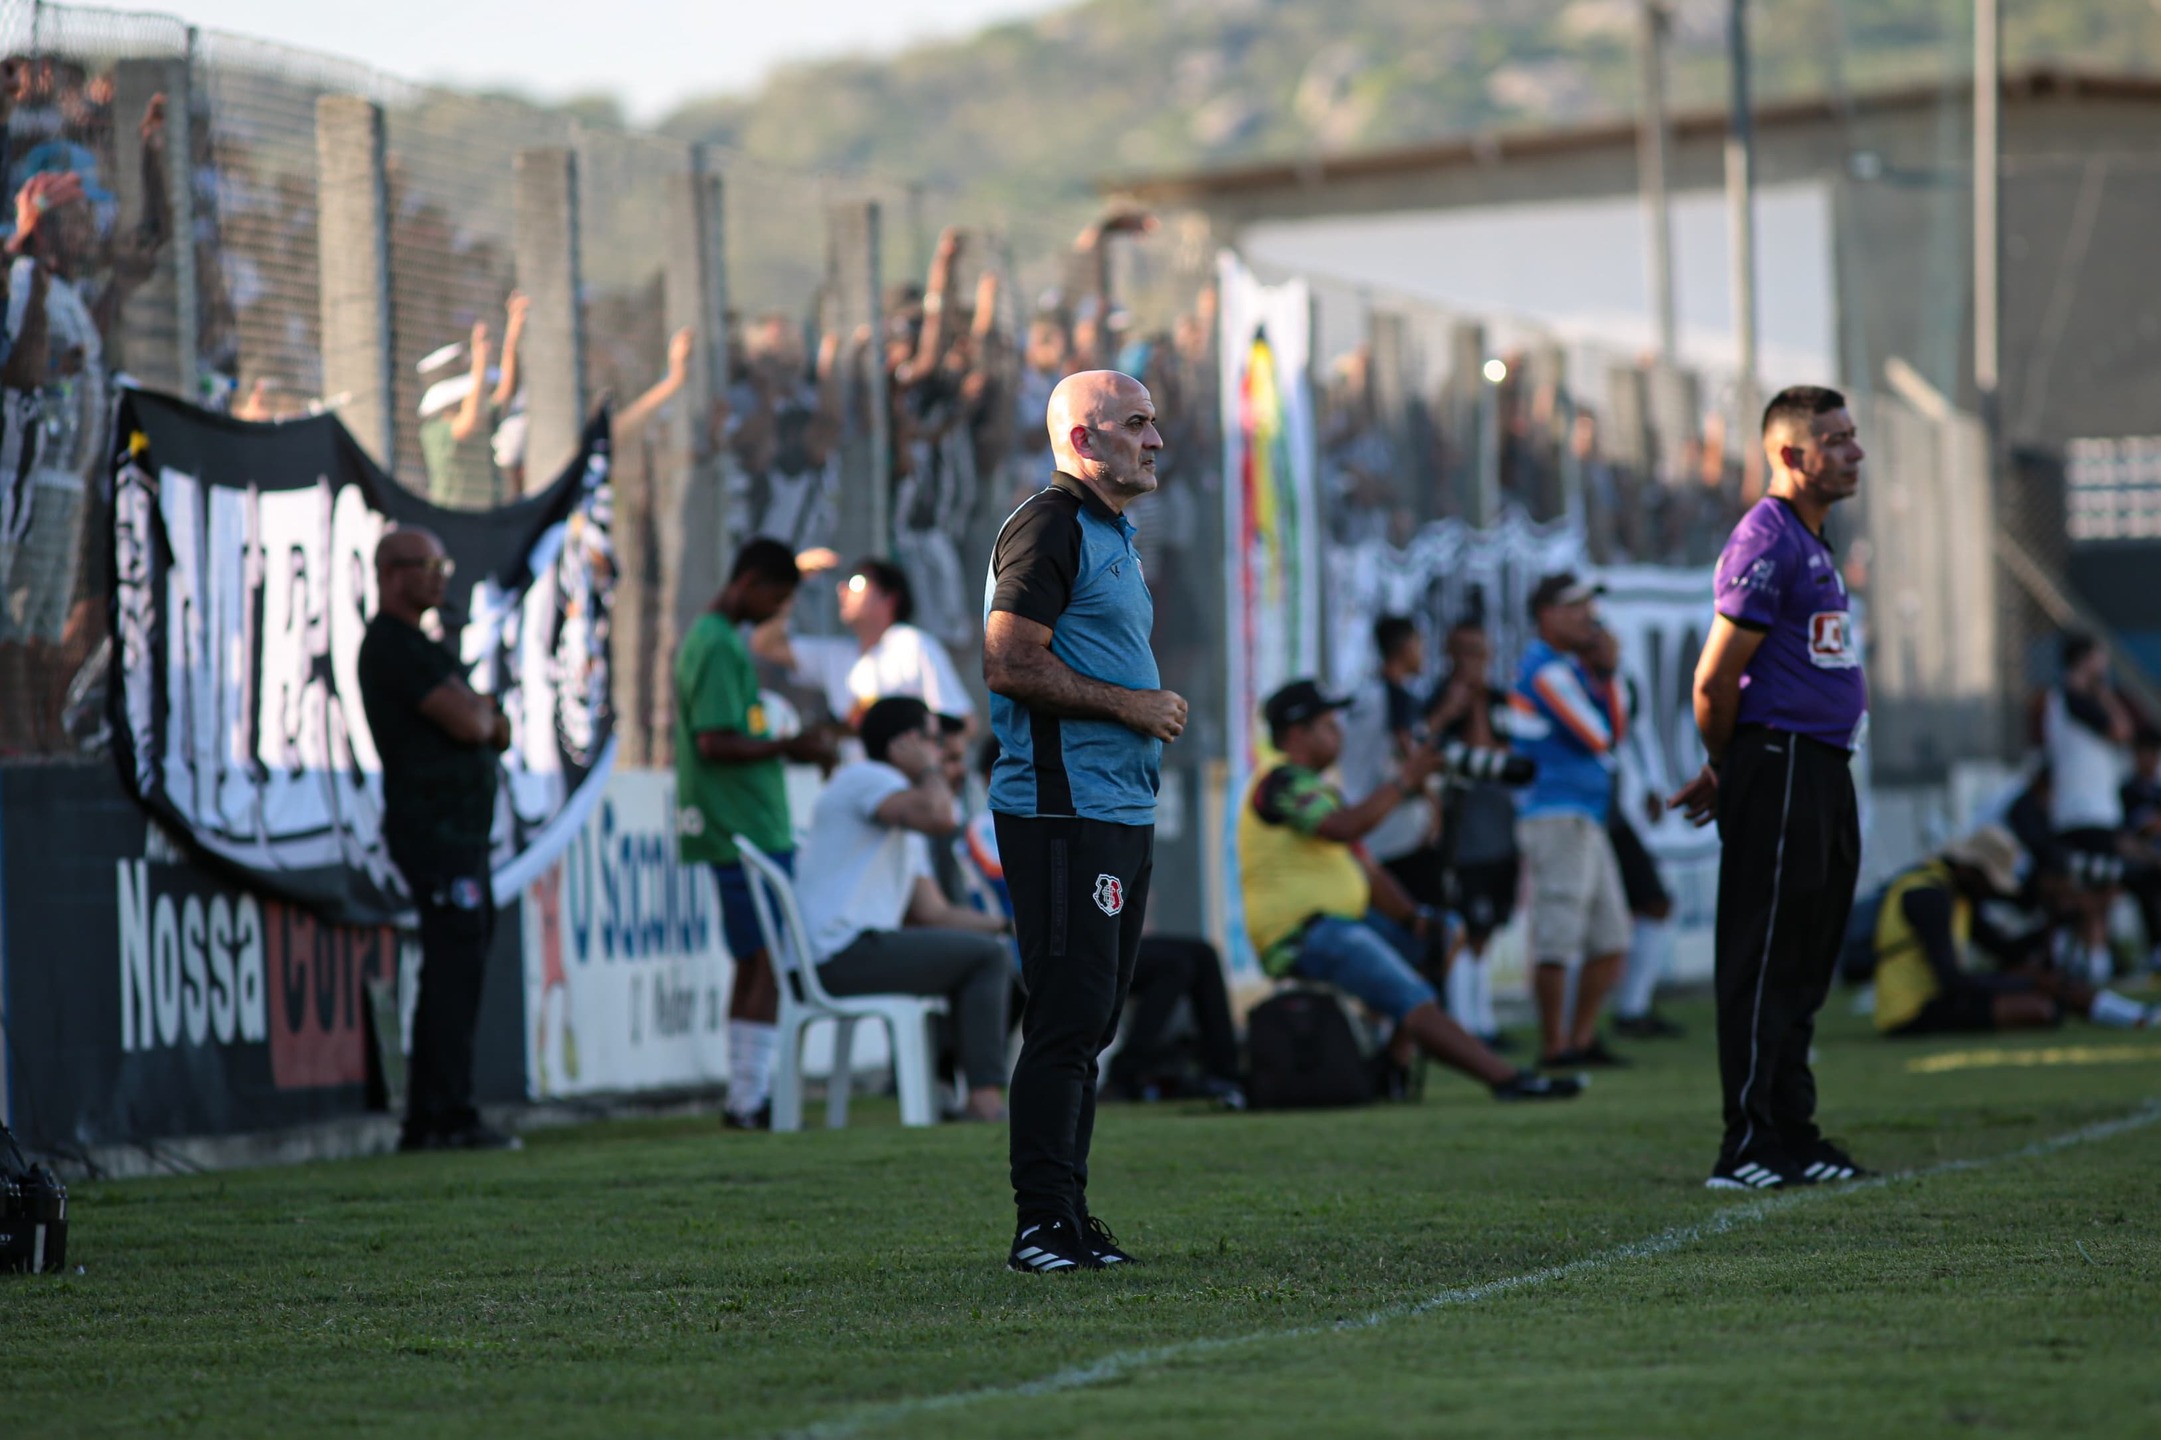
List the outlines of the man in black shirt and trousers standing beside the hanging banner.
{"label": "man in black shirt and trousers standing beside the hanging banner", "polygon": [[382,843],[419,910],[419,1005],[400,1150],[501,1150],[516,1139],[473,1109],[473,1027],[495,934],[488,830],[510,720],[419,623],[452,562],[426,530],[376,545],[376,618],[361,640],[361,703],[382,757]]}

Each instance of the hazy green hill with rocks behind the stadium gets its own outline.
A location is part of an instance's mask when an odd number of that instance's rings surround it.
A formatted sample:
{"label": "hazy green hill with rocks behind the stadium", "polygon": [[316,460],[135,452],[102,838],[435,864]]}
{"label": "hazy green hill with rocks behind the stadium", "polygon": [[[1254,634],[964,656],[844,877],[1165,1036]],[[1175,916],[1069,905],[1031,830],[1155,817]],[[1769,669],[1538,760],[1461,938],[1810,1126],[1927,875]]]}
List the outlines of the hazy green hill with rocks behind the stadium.
{"label": "hazy green hill with rocks behind the stadium", "polygon": [[[1675,104],[1724,95],[1724,0],[1677,0]],[[2005,4],[2012,65],[2161,69],[2148,0]],[[1763,97],[1947,78],[1971,0],[1759,0]],[[1070,234],[1102,175],[1627,112],[1636,0],[1085,0],[892,58],[776,71],[666,130],[800,171],[877,171]],[[953,210],[953,205],[947,205]]]}

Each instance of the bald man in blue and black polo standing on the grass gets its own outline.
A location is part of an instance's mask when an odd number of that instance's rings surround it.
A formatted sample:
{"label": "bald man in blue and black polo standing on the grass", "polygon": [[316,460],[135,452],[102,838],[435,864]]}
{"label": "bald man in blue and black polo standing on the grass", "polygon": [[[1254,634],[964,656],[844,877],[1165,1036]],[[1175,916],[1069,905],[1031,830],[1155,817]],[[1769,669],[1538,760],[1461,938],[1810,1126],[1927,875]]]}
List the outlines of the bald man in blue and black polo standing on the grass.
{"label": "bald man in blue and black polo standing on the grass", "polygon": [[1052,482],[998,532],[983,681],[998,763],[990,809],[1014,897],[1020,1016],[1011,1114],[1014,1269],[1128,1263],[1087,1206],[1096,1057],[1117,1034],[1156,856],[1163,744],[1186,703],[1160,688],[1156,605],[1126,506],[1156,489],[1156,406],[1115,370],[1050,394]]}

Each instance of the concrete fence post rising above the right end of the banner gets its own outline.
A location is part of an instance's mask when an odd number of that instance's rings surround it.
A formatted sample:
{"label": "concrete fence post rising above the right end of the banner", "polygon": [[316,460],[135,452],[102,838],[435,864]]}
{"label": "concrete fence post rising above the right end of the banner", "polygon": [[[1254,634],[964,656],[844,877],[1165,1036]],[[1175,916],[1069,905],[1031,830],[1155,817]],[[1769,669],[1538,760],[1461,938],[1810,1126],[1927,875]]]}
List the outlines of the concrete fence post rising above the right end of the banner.
{"label": "concrete fence post rising above the right end of the banner", "polygon": [[551,484],[586,430],[586,311],[579,298],[577,154],[521,149],[514,166],[512,246],[525,316],[525,474]]}

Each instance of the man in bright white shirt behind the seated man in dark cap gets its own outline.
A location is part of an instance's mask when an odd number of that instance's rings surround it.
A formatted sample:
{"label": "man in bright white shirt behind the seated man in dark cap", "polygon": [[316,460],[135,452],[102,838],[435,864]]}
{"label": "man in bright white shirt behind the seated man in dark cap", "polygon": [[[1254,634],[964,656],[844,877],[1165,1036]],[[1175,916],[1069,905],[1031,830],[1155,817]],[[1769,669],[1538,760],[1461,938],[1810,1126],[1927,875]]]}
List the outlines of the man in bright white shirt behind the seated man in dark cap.
{"label": "man in bright white shirt behind the seated man in dark cap", "polygon": [[795,683],[815,685],[843,724],[886,696],[914,696],[940,716],[972,729],[975,698],[959,681],[953,657],[936,638],[910,625],[916,614],[908,571],[888,560],[860,560],[841,582],[841,623],[847,636],[791,636],[787,616],[759,629],[759,659],[787,666]]}

